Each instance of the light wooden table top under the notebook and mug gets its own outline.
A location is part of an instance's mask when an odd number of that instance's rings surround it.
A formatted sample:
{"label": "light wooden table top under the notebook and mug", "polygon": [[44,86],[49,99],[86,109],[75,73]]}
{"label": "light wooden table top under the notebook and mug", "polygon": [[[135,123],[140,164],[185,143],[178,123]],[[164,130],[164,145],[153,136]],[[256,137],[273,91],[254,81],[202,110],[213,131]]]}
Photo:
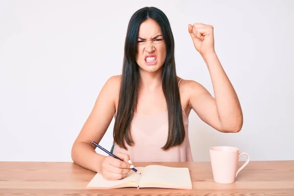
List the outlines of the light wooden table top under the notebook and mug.
{"label": "light wooden table top under the notebook and mug", "polygon": [[[244,162],[239,162],[239,167]],[[122,188],[89,190],[95,172],[74,163],[0,162],[0,195],[94,196],[94,195],[196,195],[196,196],[294,196],[294,161],[250,161],[232,184],[213,181],[210,162],[134,163],[135,167],[158,164],[188,167],[193,190]]]}

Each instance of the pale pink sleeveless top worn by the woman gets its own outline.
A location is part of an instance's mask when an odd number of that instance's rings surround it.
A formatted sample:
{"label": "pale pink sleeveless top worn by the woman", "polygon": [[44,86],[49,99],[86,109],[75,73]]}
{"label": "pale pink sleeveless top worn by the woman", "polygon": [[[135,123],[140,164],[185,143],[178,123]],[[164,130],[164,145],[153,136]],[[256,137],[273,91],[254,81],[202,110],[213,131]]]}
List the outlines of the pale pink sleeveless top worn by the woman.
{"label": "pale pink sleeveless top worn by the woman", "polygon": [[167,151],[161,149],[168,137],[167,111],[158,115],[135,113],[130,130],[135,145],[132,147],[126,145],[127,150],[114,145],[113,153],[126,153],[132,162],[193,162],[188,134],[189,119],[183,107],[182,114],[186,137],[181,145]]}

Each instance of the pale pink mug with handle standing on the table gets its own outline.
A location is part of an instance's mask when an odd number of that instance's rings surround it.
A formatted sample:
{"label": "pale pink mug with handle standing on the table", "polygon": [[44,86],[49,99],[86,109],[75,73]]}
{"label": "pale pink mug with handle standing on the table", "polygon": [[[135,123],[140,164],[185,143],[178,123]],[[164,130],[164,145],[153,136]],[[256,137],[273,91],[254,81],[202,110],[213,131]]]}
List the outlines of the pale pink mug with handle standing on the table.
{"label": "pale pink mug with handle standing on the table", "polygon": [[[250,159],[246,152],[239,153],[237,147],[211,147],[209,154],[214,181],[221,184],[235,182],[238,173],[249,163]],[[244,154],[247,160],[237,170],[239,158]]]}

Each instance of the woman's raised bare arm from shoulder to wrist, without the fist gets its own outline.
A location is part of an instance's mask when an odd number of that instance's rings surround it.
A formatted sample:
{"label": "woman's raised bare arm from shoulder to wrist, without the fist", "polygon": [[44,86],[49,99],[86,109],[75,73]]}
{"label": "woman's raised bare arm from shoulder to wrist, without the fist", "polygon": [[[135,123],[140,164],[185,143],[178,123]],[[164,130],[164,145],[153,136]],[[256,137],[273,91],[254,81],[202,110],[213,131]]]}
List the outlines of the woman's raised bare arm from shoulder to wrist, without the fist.
{"label": "woman's raised bare arm from shoulder to wrist, without the fist", "polygon": [[190,107],[199,118],[221,132],[239,132],[243,113],[237,94],[215,53],[203,56],[209,69],[215,98],[199,83],[190,81]]}

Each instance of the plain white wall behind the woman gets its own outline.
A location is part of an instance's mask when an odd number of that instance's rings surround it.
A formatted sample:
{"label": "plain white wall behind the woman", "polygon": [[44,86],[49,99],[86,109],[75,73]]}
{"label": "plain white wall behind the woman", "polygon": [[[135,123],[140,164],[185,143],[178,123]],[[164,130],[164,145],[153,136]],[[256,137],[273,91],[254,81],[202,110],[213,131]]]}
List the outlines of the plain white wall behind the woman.
{"label": "plain white wall behind the woman", "polygon": [[[217,145],[239,147],[250,160],[294,160],[294,2],[168,2],[0,0],[0,161],[72,161],[101,87],[121,73],[128,21],[144,6],[170,20],[177,74],[212,94],[188,24],[213,25],[216,52],[241,101],[239,133],[220,133],[191,112],[194,160],[208,161]],[[100,143],[108,149],[113,123]]]}

